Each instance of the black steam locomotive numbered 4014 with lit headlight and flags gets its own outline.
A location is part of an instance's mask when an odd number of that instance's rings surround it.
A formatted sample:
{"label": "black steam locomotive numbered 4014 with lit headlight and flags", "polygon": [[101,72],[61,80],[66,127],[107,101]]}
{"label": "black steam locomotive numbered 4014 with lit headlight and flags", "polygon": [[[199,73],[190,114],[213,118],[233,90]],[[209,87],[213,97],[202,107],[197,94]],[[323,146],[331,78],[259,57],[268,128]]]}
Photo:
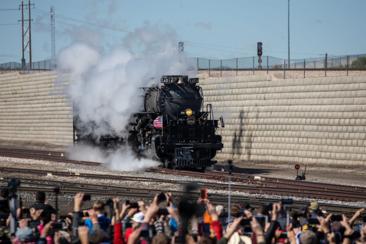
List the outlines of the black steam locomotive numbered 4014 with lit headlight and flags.
{"label": "black steam locomotive numbered 4014 with lit headlight and flags", "polygon": [[223,148],[221,135],[216,135],[218,120],[213,119],[211,104],[203,109],[202,89],[198,78],[162,76],[161,87],[143,87],[143,112],[134,113],[126,130],[128,135],[80,136],[74,141],[89,140],[105,150],[119,144],[131,146],[137,154],[152,149],[154,157],[165,168],[206,168],[217,150]]}

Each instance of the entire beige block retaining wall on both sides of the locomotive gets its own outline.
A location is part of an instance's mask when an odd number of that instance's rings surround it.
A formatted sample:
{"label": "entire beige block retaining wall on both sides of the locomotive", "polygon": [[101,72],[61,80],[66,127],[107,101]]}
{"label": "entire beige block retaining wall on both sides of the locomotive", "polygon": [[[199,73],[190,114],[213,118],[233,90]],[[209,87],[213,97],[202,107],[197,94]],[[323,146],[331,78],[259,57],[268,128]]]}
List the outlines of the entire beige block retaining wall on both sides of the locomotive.
{"label": "entire beige block retaining wall on both sides of the locomotive", "polygon": [[[0,75],[0,140],[72,143],[72,106],[56,72]],[[224,116],[218,158],[366,165],[366,76],[201,79]],[[219,128],[218,133],[221,134]]]}

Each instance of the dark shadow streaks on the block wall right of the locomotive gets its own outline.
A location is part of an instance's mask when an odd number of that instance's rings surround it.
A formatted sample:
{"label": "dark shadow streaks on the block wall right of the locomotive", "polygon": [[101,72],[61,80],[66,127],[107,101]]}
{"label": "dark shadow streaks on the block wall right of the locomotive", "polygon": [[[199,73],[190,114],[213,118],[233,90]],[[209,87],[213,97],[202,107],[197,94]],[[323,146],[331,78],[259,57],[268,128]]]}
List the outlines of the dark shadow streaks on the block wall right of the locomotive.
{"label": "dark shadow streaks on the block wall right of the locomotive", "polygon": [[[240,145],[240,138],[245,136],[245,124],[246,124],[246,118],[244,116],[245,112],[244,110],[240,110],[239,119],[240,119],[240,129],[239,131],[235,131],[234,133],[234,139],[232,141],[232,154],[246,154],[247,160],[250,160],[251,157],[251,149],[252,149],[252,143],[253,143],[253,131],[248,131],[248,136],[246,138],[246,143],[244,148]],[[257,113],[255,114],[256,122],[259,118],[259,110],[257,109]],[[243,152],[242,149],[245,149]]]}

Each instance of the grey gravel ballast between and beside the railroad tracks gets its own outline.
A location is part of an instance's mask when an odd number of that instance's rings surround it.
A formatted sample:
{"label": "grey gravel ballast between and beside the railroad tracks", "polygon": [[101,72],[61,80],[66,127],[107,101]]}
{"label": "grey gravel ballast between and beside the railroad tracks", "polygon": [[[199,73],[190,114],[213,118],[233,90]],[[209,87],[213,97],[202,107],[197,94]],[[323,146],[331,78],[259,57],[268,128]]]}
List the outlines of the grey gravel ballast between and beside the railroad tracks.
{"label": "grey gravel ballast between and beside the railroad tracks", "polygon": [[[121,175],[121,176],[135,176],[135,177],[147,177],[147,178],[156,178],[156,179],[171,179],[171,180],[178,180],[182,182],[186,181],[199,181],[199,182],[214,182],[214,183],[222,183],[222,181],[216,180],[208,180],[208,179],[197,179],[195,177],[189,176],[177,176],[172,174],[161,174],[161,173],[150,173],[150,172],[143,172],[143,171],[117,171],[117,170],[109,170],[103,166],[89,166],[89,165],[77,165],[77,164],[66,164],[60,162],[52,162],[52,161],[41,161],[35,159],[22,159],[22,158],[9,158],[9,157],[0,157],[0,163],[3,167],[12,167],[12,168],[27,168],[27,169],[42,169],[42,170],[54,170],[54,171],[67,171],[67,172],[75,172],[75,173],[93,173],[93,174],[110,174],[110,175]],[[220,161],[219,164],[225,164],[225,161]],[[255,173],[259,176],[271,176],[271,177],[282,177],[293,179],[294,177],[294,170],[286,169],[284,164],[273,164],[272,167],[268,167],[265,163],[259,164],[254,162],[235,162],[236,170],[239,172],[246,172],[246,173]],[[217,167],[220,167],[218,165]],[[288,167],[288,165],[287,165]],[[312,166],[310,166],[311,168]],[[264,170],[265,169],[265,170]],[[324,169],[325,170],[325,169]],[[271,172],[274,173],[271,173]],[[313,170],[312,170],[313,171]],[[321,169],[317,169],[317,171],[322,174]],[[348,176],[347,176],[348,171]],[[287,172],[287,174],[286,174]],[[354,172],[352,169],[340,170],[344,174],[343,179],[329,179],[323,174],[324,177],[321,179],[313,179],[313,176],[310,174],[307,175],[310,181],[318,181],[324,183],[333,183],[333,184],[343,184],[344,181],[348,179],[352,179],[352,175]],[[364,172],[364,171],[363,171]],[[332,178],[331,175],[330,178]],[[31,174],[20,174],[20,173],[11,173],[10,175],[4,174],[3,177],[19,177],[19,178],[31,178],[31,179],[48,179],[48,180],[56,180],[56,181],[70,181],[70,182],[77,182],[77,183],[88,183],[88,184],[100,184],[100,185],[117,185],[121,187],[133,187],[133,188],[146,188],[146,189],[161,189],[163,191],[183,191],[184,187],[180,184],[169,184],[169,183],[154,183],[154,182],[146,182],[146,181],[121,181],[121,180],[96,180],[96,179],[87,179],[83,177],[59,177],[59,176],[36,176]],[[334,176],[333,176],[334,178]],[[351,181],[351,180],[350,180]],[[235,183],[236,185],[244,184],[244,183]],[[355,184],[359,186],[366,186],[363,184]],[[208,193],[210,194],[223,194],[227,195],[227,191],[222,190],[213,190],[208,189]],[[198,194],[198,190],[197,190]],[[232,195],[238,196],[251,196],[251,197],[262,197],[262,198],[275,198],[275,199],[282,199],[287,198],[289,196],[283,195],[270,195],[270,194],[252,194],[247,192],[231,192]],[[22,197],[23,201],[25,202],[25,206],[30,205],[34,202],[34,194],[27,194],[27,193],[19,193],[19,196]],[[291,196],[290,196],[291,197]],[[50,203],[54,202],[53,196],[48,196],[48,200]],[[121,196],[122,200],[126,200],[123,196]],[[342,204],[342,205],[350,205],[350,206],[360,206],[364,207],[366,202],[350,202],[350,201],[343,201],[343,200],[328,200],[328,199],[313,199],[313,198],[306,198],[306,197],[299,197],[293,196],[294,200],[299,201],[315,201],[318,203],[331,203],[331,204]],[[107,198],[96,198],[95,199],[107,199]],[[131,199],[137,200],[137,199]],[[72,204],[73,204],[73,196],[59,196],[59,202],[61,209],[62,207],[65,210],[71,211]],[[91,203],[87,203],[91,204]],[[91,206],[91,205],[90,205]]]}

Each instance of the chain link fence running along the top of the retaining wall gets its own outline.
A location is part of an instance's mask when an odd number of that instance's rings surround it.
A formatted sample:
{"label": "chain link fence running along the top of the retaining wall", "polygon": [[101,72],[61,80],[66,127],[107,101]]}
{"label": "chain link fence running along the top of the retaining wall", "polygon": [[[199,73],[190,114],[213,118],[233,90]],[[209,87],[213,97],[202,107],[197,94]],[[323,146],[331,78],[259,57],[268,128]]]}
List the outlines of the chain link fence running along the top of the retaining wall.
{"label": "chain link fence running along the top of the retaining wall", "polygon": [[[366,71],[366,63],[364,67],[359,67],[354,65],[355,61],[358,61],[360,57],[365,57],[366,54],[359,55],[347,55],[347,56],[331,56],[331,57],[320,57],[314,59],[292,59],[290,63],[286,62],[285,59],[279,59],[277,57],[272,56],[262,56],[261,57],[261,67],[258,66],[258,57],[241,57],[235,59],[223,59],[223,60],[215,60],[215,59],[206,59],[206,58],[188,58],[186,60],[187,65],[190,70],[198,70],[198,71],[208,71],[208,76],[235,76],[235,75],[250,75],[255,74],[254,71],[258,74],[269,74],[270,71],[283,71],[283,75],[281,78],[286,78],[286,70],[288,71],[299,71],[303,70],[303,78],[305,78],[305,71],[316,70],[321,71],[324,70],[324,76],[326,76],[326,72],[332,70],[341,70],[345,71],[345,74],[348,75],[348,70],[365,70]],[[3,63],[0,64],[0,72],[1,74],[9,73],[9,72],[19,72],[20,74],[29,74],[36,72],[44,72],[49,70],[56,69],[56,60],[48,59],[38,62],[32,63]],[[224,72],[223,74],[223,71]],[[230,71],[230,72],[227,72]],[[246,71],[239,72],[238,71]],[[252,72],[250,72],[252,71]],[[212,75],[211,73],[215,74]],[[219,72],[219,74],[218,74]],[[277,72],[278,73],[278,72]]]}

